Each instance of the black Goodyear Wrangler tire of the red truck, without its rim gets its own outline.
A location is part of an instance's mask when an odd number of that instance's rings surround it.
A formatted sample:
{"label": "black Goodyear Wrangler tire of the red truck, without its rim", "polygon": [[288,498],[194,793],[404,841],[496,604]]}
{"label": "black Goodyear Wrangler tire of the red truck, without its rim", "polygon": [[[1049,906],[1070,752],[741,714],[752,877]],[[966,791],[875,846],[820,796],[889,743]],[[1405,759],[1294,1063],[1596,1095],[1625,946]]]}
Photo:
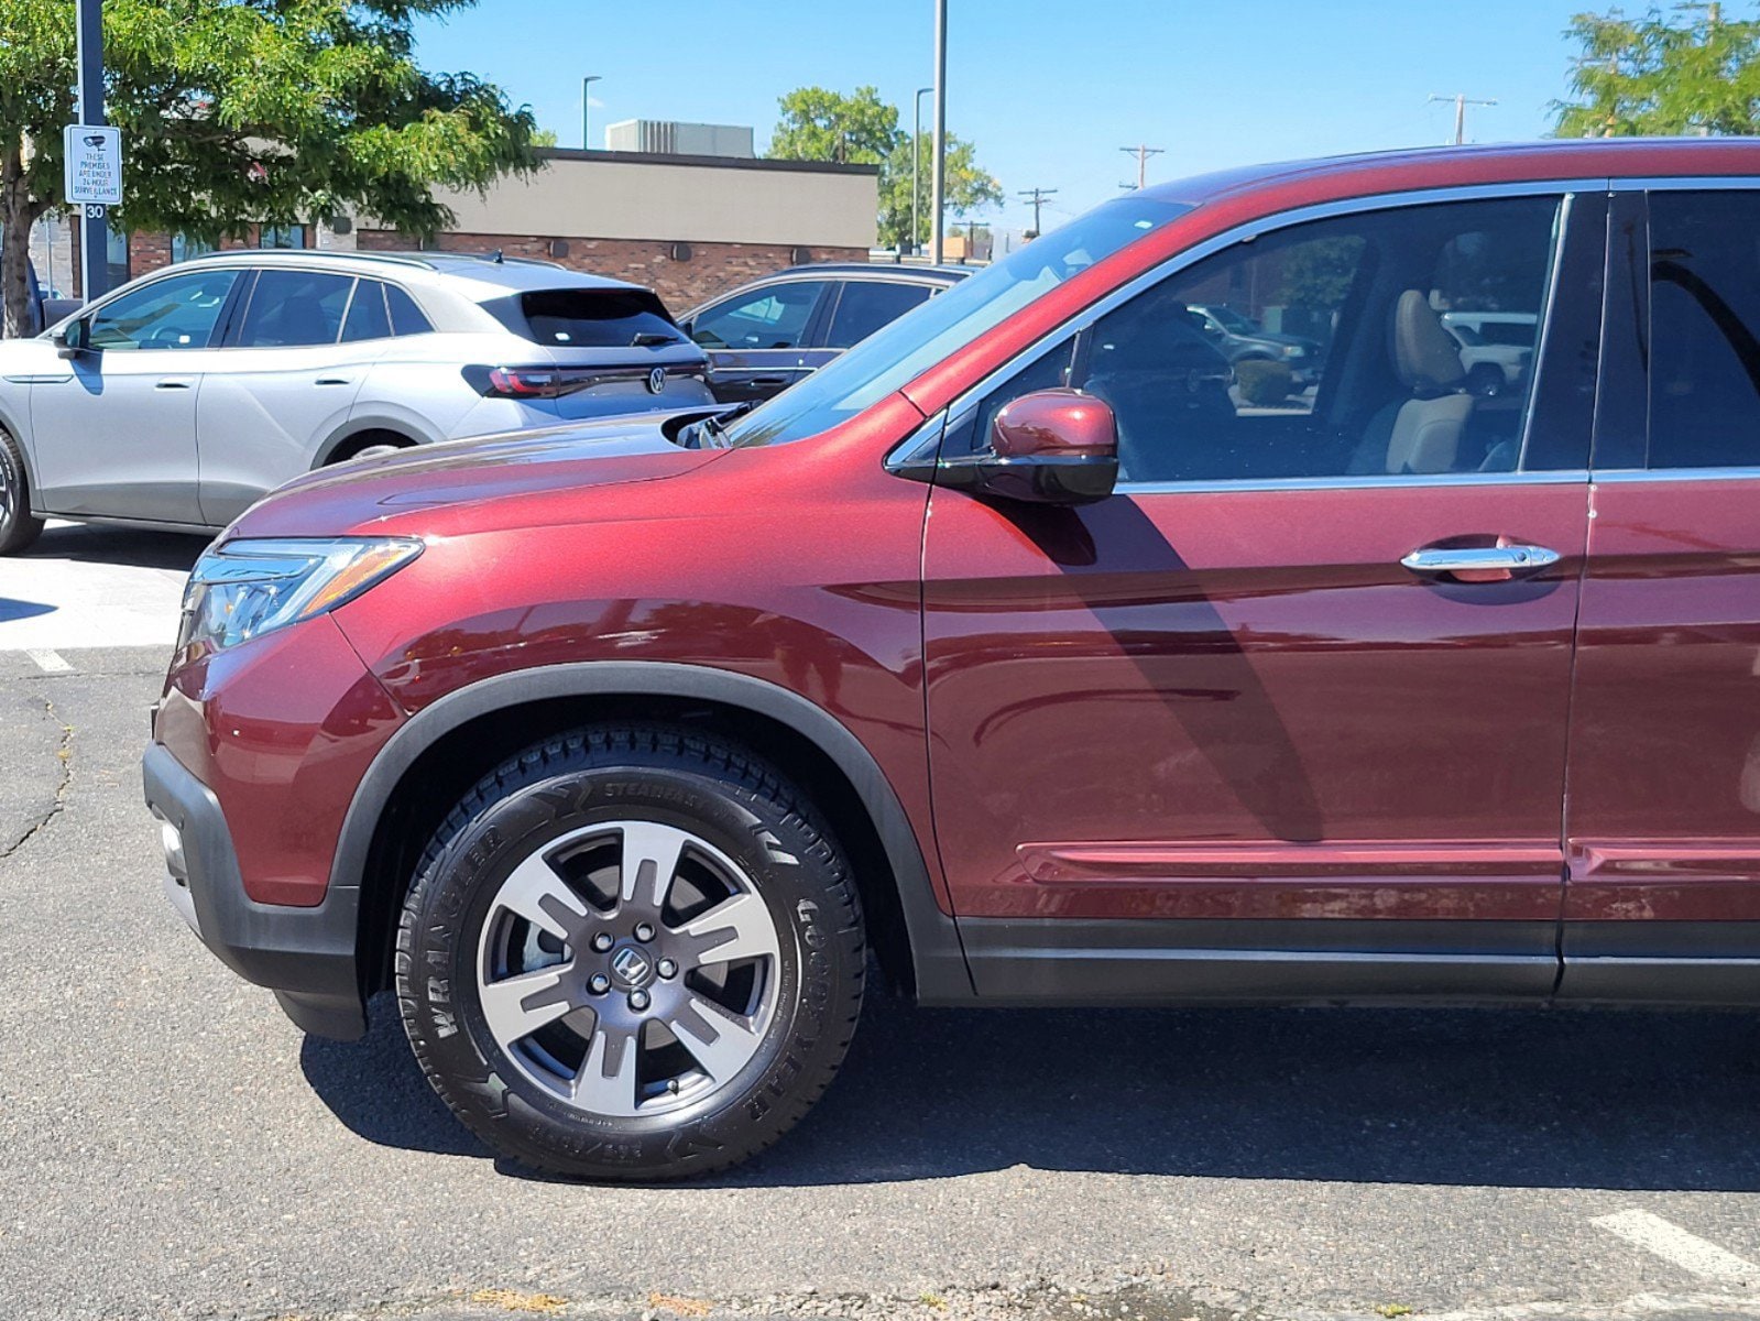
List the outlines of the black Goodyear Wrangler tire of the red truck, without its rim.
{"label": "black Goodyear Wrangler tire of the red truck, without its rim", "polygon": [[[510,1059],[482,1007],[480,949],[498,930],[484,925],[496,918],[507,877],[553,842],[611,821],[700,837],[743,868],[776,934],[778,953],[766,963],[774,969],[766,978],[776,978],[771,1018],[755,1053],[725,1083],[713,1080],[699,1101],[667,1113],[609,1117],[568,1104]],[[567,965],[577,962],[570,955]],[[792,1127],[843,1062],[864,962],[848,863],[799,789],[720,738],[597,726],[507,759],[458,803],[403,905],[396,990],[429,1083],[489,1147],[544,1173],[644,1182],[723,1170]],[[688,976],[679,974],[679,990]]]}

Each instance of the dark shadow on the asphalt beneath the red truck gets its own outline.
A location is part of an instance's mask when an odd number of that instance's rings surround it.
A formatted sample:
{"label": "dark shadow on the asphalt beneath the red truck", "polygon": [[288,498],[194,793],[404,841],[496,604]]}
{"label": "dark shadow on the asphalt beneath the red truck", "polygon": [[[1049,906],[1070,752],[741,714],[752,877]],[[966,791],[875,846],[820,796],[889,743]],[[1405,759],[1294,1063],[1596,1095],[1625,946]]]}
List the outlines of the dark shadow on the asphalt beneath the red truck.
{"label": "dark shadow on the asphalt beneath the red truck", "polygon": [[[488,1152],[429,1090],[396,1002],[306,1039],[375,1143]],[[1760,1191],[1760,1018],[1647,1011],[933,1011],[875,999],[824,1101],[725,1187],[1038,1170]],[[510,1171],[512,1173],[512,1171]]]}

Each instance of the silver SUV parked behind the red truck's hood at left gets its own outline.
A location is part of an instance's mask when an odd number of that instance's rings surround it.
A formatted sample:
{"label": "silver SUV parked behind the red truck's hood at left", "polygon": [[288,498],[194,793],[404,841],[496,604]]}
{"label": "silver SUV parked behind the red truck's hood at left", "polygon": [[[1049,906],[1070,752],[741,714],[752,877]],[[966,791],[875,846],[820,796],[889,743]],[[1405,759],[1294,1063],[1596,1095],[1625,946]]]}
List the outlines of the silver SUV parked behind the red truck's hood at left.
{"label": "silver SUV parked behind the red truck's hood at left", "polygon": [[709,402],[648,289],[438,252],[218,252],[0,343],[0,553],[48,516],[218,530],[363,454]]}

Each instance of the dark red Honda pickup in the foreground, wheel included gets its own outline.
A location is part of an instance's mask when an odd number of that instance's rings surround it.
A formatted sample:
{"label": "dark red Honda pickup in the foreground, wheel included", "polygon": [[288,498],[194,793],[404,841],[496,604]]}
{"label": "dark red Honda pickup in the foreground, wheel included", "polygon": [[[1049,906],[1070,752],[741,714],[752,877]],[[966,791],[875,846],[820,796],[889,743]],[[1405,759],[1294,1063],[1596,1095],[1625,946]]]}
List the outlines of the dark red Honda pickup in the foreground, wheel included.
{"label": "dark red Honda pickup in the foreground, wheel included", "polygon": [[1756,178],[1188,180],[753,412],[301,477],[192,576],[171,897],[609,1178],[794,1124],[869,951],[929,1004],[1760,1002]]}

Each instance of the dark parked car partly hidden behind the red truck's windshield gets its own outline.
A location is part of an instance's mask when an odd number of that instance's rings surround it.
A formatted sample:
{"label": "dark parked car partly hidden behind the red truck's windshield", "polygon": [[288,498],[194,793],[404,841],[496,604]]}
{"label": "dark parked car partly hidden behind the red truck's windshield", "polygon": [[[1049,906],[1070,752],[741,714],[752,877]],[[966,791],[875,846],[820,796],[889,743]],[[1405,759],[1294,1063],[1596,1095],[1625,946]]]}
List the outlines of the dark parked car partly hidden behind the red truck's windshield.
{"label": "dark parked car partly hidden behind the red truck's windshield", "polygon": [[972,273],[966,266],[825,262],[743,284],[683,319],[727,403],[767,400]]}

